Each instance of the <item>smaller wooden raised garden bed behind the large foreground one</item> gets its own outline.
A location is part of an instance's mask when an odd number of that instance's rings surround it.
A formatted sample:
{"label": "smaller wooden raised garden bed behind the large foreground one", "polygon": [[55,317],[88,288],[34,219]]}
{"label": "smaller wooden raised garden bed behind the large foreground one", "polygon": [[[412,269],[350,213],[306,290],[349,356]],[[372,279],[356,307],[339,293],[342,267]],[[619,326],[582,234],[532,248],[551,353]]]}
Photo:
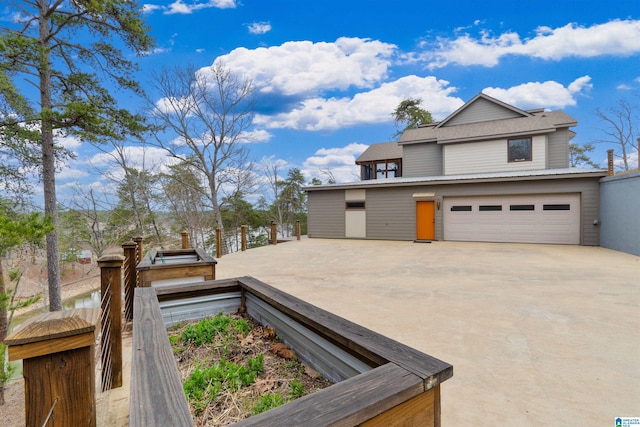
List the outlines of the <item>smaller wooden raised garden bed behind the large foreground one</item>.
{"label": "smaller wooden raised garden bed behind the large foreground one", "polygon": [[[216,278],[217,261],[203,249],[150,250],[137,265],[140,286],[165,286],[176,281]],[[176,280],[179,279],[179,280]]]}

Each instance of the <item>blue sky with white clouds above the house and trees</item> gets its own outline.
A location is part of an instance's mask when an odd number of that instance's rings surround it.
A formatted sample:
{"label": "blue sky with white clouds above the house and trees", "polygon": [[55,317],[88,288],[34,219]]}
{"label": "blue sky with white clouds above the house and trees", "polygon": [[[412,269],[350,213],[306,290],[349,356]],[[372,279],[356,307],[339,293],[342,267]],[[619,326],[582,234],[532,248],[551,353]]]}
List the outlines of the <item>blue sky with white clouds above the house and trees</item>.
{"label": "blue sky with white clouds above the house and trees", "polygon": [[[578,120],[581,144],[604,137],[596,108],[640,104],[638,0],[182,0],[143,10],[157,44],[139,60],[143,86],[175,64],[222,61],[244,72],[259,95],[252,159],[285,174],[300,168],[307,180],[326,180],[323,171],[357,180],[355,158],[391,140],[391,112],[408,97],[436,120],[481,91],[523,109],[561,109]],[[79,178],[107,185],[89,172],[104,155],[61,143],[78,154],[58,175],[62,194]],[[613,147],[596,147],[592,159],[605,166]],[[162,157],[150,151],[145,162]]]}

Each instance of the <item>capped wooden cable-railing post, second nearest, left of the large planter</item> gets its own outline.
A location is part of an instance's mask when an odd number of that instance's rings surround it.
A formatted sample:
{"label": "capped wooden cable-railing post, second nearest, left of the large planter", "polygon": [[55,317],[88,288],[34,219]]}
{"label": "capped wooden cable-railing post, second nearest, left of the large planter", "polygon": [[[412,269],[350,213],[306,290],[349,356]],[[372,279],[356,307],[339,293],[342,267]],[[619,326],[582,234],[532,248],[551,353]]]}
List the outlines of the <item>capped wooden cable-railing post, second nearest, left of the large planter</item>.
{"label": "capped wooden cable-railing post, second nearest, left of the large planter", "polygon": [[120,255],[106,255],[98,260],[102,325],[100,347],[102,391],[122,387],[122,262]]}

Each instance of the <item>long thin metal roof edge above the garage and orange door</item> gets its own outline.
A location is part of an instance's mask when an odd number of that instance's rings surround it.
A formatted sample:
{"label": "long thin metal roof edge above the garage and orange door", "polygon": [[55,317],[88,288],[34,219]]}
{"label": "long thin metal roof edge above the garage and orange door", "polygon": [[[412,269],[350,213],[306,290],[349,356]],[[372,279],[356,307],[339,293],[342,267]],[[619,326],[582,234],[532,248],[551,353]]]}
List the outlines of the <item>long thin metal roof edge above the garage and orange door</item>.
{"label": "long thin metal roof edge above the garage and orange door", "polygon": [[525,181],[536,179],[564,179],[564,178],[602,178],[607,175],[606,170],[563,168],[538,169],[515,172],[491,172],[464,175],[437,175],[412,178],[385,178],[367,181],[346,182],[340,184],[312,185],[304,187],[305,191],[340,190],[353,188],[398,187],[408,185],[437,185],[437,184],[467,184],[496,181]]}

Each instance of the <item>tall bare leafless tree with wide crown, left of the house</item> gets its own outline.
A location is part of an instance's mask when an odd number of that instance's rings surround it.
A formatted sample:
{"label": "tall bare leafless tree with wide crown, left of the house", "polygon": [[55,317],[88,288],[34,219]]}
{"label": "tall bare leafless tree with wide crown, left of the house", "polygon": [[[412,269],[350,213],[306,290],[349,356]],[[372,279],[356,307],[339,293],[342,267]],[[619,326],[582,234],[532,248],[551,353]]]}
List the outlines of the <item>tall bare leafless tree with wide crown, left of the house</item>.
{"label": "tall bare leafless tree with wide crown, left of the house", "polygon": [[216,63],[200,70],[165,69],[154,76],[153,88],[160,100],[149,99],[150,116],[163,129],[156,143],[206,178],[207,199],[223,228],[225,188],[236,191],[251,174],[243,138],[254,115],[253,84]]}

